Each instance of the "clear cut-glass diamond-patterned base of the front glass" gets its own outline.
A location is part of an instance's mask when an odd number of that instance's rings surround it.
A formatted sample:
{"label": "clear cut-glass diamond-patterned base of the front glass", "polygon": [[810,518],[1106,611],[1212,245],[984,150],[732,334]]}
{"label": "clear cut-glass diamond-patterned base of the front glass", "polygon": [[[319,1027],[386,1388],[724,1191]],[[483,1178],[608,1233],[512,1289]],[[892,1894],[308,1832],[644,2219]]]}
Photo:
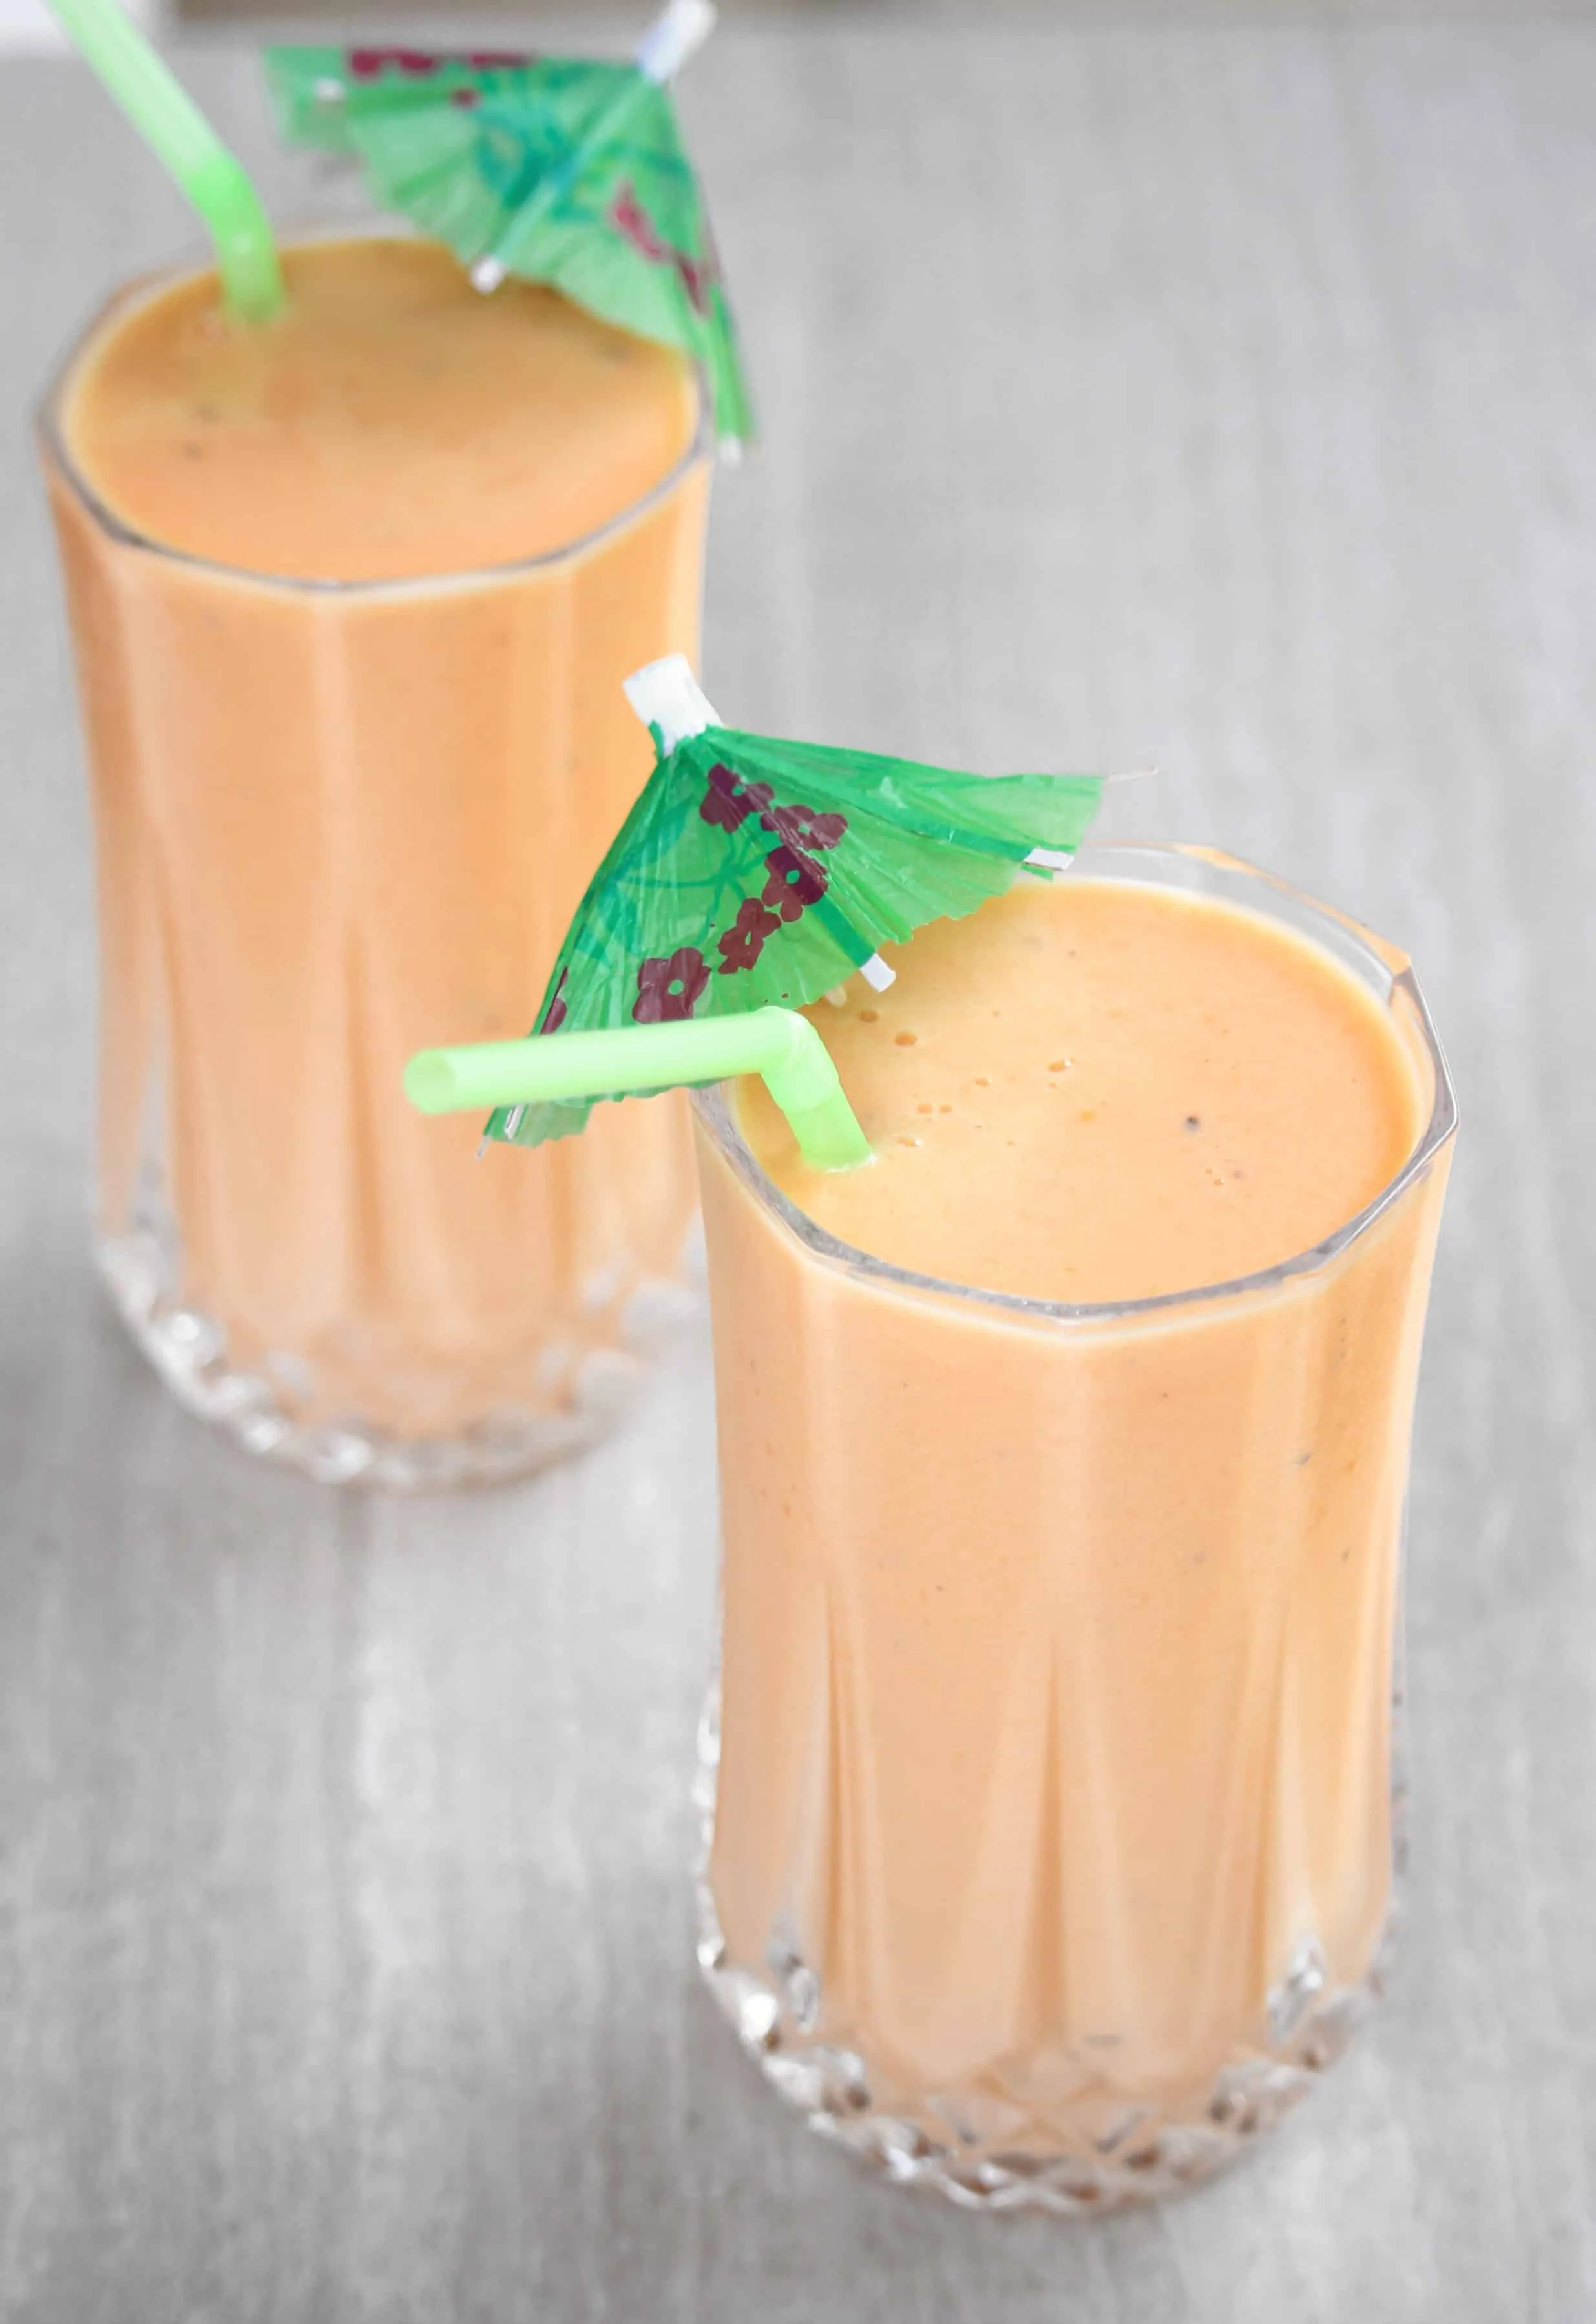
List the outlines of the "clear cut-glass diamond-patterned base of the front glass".
{"label": "clear cut-glass diamond-patterned base of the front glass", "polygon": [[1268,1996],[1268,2038],[1238,2052],[1180,2115],[1115,2094],[1080,2066],[1078,2092],[1038,2115],[1001,2075],[978,2087],[885,2087],[846,2040],[825,2038],[822,1989],[797,1948],[776,1938],[767,1964],[734,1964],[709,1889],[720,1764],[718,1692],[699,1722],[695,1806],[702,1815],[697,1959],[716,2003],[771,2089],[811,2131],[899,2187],[927,2187],[966,2210],[1092,2217],[1180,2194],[1236,2161],[1308,2094],[1385,1989],[1389,1929],[1361,1985],[1327,1989],[1324,1957],[1303,1945]]}

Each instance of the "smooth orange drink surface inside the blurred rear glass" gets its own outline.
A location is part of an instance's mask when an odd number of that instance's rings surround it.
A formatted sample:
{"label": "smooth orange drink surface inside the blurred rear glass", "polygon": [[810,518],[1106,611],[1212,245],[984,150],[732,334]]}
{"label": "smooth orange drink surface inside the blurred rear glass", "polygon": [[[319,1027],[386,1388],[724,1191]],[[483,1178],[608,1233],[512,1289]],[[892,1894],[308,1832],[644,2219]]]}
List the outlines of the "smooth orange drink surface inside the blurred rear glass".
{"label": "smooth orange drink surface inside the blurred rear glass", "polygon": [[311,242],[260,328],[216,281],[149,300],[74,381],[67,444],[132,530],[307,581],[565,548],[688,449],[688,365],[553,290],[490,297],[430,242]]}

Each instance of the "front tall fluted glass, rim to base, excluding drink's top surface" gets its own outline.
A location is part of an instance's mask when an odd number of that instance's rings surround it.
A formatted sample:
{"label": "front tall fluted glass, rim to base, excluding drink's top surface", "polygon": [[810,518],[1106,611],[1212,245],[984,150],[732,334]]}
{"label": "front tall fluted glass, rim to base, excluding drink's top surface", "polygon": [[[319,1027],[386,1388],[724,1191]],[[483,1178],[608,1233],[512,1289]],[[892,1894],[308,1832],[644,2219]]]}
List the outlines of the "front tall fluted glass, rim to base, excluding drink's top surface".
{"label": "front tall fluted glass, rim to base, excluding drink's top surface", "polygon": [[971,1292],[832,1241],[697,1102],[725,1527],[699,1959],[815,2129],[1064,2212],[1222,2166],[1380,1989],[1454,1129],[1389,946],[1229,858],[1080,871],[1278,920],[1389,1011],[1426,1127],[1320,1248],[1120,1306]]}

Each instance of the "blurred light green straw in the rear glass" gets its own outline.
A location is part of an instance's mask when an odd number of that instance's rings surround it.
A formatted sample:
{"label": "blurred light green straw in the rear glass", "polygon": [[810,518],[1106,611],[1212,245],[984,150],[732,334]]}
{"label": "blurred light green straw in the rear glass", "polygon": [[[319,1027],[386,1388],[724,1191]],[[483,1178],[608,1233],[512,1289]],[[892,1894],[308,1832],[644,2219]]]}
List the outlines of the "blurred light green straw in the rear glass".
{"label": "blurred light green straw in the rear glass", "polygon": [[228,307],[246,323],[269,323],[283,304],[283,270],[260,195],[239,163],[116,0],[49,0],[49,7],[204,218]]}

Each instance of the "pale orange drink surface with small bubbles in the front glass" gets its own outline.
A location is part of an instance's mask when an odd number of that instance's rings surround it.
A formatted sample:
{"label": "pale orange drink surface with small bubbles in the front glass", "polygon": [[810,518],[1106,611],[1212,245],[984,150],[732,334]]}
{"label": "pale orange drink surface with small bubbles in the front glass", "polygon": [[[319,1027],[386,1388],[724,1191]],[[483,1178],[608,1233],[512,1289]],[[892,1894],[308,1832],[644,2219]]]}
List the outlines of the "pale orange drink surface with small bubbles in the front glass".
{"label": "pale orange drink surface with small bubbles in the front glass", "polygon": [[1108,1301],[1310,1250],[1401,1169],[1419,1090],[1385,1011],[1257,913],[1127,883],[1025,883],[811,1011],[871,1169],[743,1129],[822,1227],[915,1274]]}

